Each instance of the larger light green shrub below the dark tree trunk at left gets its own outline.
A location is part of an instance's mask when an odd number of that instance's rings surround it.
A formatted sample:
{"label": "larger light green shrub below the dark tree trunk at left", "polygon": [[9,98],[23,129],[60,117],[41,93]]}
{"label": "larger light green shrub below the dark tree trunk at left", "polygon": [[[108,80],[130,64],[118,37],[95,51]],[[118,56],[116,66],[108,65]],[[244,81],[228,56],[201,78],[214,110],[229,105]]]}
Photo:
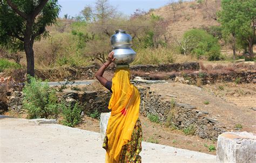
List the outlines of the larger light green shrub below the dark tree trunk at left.
{"label": "larger light green shrub below the dark tree trunk at left", "polygon": [[56,118],[59,110],[55,89],[42,80],[28,77],[23,88],[23,107],[28,110],[28,118]]}

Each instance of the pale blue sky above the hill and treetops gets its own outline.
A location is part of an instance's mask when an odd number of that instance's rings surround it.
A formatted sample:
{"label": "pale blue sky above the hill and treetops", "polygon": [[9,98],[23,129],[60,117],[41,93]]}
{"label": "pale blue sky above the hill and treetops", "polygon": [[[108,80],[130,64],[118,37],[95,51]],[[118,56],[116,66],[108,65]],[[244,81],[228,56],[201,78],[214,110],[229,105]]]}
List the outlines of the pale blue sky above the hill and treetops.
{"label": "pale blue sky above the hill and treetops", "polygon": [[[62,6],[59,17],[64,17],[66,13],[70,16],[76,16],[84,9],[85,5],[93,5],[96,0],[59,0]],[[131,15],[136,9],[157,9],[166,5],[169,0],[110,0],[111,5],[116,6],[118,11]]]}

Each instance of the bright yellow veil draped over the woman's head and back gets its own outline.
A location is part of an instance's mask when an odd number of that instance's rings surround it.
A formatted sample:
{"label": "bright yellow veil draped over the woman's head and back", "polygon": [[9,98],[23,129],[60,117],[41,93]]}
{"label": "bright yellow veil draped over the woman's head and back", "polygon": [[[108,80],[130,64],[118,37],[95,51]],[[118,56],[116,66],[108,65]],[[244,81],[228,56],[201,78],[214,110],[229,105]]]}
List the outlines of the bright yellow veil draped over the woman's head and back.
{"label": "bright yellow veil draped over the woman's head and back", "polygon": [[130,70],[117,69],[112,79],[112,96],[109,102],[111,116],[107,124],[108,138],[106,162],[119,162],[122,147],[131,140],[139,117],[140,94],[130,83]]}

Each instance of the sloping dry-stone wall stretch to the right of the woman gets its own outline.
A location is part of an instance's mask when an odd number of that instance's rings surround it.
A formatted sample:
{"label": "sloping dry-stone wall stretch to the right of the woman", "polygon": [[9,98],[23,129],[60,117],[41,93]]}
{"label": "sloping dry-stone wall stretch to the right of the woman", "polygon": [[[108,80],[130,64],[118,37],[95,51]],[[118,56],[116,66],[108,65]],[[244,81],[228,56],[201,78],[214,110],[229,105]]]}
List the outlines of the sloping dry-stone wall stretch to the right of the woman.
{"label": "sloping dry-stone wall stretch to the right of the woman", "polygon": [[157,115],[161,122],[179,129],[193,127],[194,134],[200,138],[217,140],[218,135],[225,132],[218,121],[208,118],[207,112],[197,110],[196,106],[181,104],[161,98],[144,87],[139,88],[141,95],[140,113],[143,116],[151,113]]}

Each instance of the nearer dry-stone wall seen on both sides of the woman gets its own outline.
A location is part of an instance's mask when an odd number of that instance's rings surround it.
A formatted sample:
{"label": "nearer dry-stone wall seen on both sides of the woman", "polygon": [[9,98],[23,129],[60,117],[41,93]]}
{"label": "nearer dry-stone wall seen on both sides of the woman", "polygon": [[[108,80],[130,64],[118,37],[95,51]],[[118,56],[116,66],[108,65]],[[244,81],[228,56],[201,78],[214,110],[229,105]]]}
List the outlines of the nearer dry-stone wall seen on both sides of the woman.
{"label": "nearer dry-stone wall seen on both sides of the woman", "polygon": [[[196,106],[166,100],[146,87],[138,88],[141,96],[140,114],[143,116],[146,117],[152,113],[166,125],[179,129],[193,126],[194,134],[200,138],[217,139],[219,134],[225,132],[224,128],[219,126],[218,121],[209,118],[207,112],[197,110]],[[110,112],[107,108],[111,97],[109,91],[65,91],[58,93],[58,97],[64,98],[68,102],[78,101],[87,115],[95,111],[98,113]],[[9,99],[10,110],[23,111],[21,92],[14,92]]]}

